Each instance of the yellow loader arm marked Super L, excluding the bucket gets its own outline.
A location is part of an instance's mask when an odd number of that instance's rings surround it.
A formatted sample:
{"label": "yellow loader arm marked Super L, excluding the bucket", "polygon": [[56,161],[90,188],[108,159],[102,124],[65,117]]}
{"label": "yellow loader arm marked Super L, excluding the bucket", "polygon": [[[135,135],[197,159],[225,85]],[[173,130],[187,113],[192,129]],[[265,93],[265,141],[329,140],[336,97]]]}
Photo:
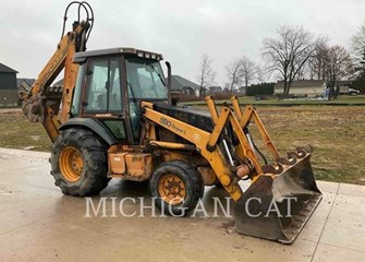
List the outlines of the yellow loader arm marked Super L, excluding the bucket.
{"label": "yellow loader arm marked Super L, excluding the bucket", "polygon": [[[215,123],[214,130],[211,133],[204,131],[199,128],[193,127],[188,123],[180,121],[175,118],[167,116],[165,114],[158,112],[153,109],[153,104],[143,103],[142,107],[144,108],[144,116],[150,121],[162,126],[163,128],[170,130],[171,132],[182,136],[192,144],[195,145],[195,150],[207,159],[211,168],[217,174],[217,177],[224,189],[230,193],[233,200],[238,201],[242,196],[242,190],[238,184],[236,174],[244,170],[248,170],[247,166],[235,167],[232,163],[226,159],[221,148],[218,146],[218,140],[221,136],[224,126],[230,122],[240,141],[240,152],[243,156],[250,159],[250,163],[253,164],[255,169],[255,175],[263,175],[263,170],[258,159],[256,158],[253,150],[250,146],[250,142],[244,135],[240,121],[235,117],[233,110],[229,107],[223,107],[218,115],[214,100],[210,96],[206,98],[210,114],[212,116],[212,121]],[[210,106],[209,106],[210,105]],[[150,143],[156,143],[156,141],[150,141]],[[167,146],[174,146],[172,143],[166,144]],[[183,147],[183,146],[182,146]],[[229,152],[226,152],[230,154]],[[240,170],[241,168],[241,170]],[[244,171],[246,174],[246,171]]]}

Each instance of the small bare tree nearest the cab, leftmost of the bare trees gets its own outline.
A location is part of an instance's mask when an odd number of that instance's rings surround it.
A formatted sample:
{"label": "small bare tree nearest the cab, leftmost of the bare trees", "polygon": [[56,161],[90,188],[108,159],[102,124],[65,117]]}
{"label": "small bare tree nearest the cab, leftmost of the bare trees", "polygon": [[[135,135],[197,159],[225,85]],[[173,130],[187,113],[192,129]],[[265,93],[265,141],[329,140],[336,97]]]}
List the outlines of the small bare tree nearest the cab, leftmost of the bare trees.
{"label": "small bare tree nearest the cab, leftmost of the bare trees", "polygon": [[207,53],[203,53],[200,60],[200,70],[198,75],[199,96],[203,96],[208,87],[215,82],[216,72],[211,68],[212,60]]}

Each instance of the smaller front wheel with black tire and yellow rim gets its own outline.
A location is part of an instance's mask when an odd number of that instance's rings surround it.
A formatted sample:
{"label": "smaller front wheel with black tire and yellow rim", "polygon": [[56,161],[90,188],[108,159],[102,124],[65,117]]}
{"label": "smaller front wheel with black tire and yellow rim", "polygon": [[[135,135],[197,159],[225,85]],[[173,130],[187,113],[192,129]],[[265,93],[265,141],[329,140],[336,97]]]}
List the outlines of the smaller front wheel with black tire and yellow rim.
{"label": "smaller front wheel with black tire and yellow rim", "polygon": [[198,170],[182,160],[159,165],[149,180],[149,191],[155,204],[163,214],[185,216],[195,209],[204,194],[204,183]]}

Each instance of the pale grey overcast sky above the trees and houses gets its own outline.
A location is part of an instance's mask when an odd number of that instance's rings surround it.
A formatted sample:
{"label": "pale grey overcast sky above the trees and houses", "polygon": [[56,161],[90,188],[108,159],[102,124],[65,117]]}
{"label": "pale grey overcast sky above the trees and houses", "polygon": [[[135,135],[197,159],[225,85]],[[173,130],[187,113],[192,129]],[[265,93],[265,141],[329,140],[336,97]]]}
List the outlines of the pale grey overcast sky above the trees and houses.
{"label": "pale grey overcast sky above the trees and houses", "polygon": [[[36,78],[59,41],[70,0],[1,1],[0,62]],[[202,55],[214,60],[217,84],[224,67],[246,56],[258,63],[264,37],[279,25],[303,25],[349,47],[365,22],[365,0],[89,0],[95,27],[88,50],[135,47],[161,52],[173,74],[197,82]],[[75,10],[69,14],[72,22]],[[70,24],[68,29],[70,28]]]}

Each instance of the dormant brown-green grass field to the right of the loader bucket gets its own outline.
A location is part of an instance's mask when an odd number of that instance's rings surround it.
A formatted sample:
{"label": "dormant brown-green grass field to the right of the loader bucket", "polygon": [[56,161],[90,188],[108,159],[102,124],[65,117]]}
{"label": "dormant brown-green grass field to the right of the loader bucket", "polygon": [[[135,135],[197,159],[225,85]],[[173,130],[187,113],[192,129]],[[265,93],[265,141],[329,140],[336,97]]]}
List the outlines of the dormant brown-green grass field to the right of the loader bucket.
{"label": "dormant brown-green grass field to the right of the loader bucket", "polygon": [[363,106],[257,106],[257,110],[280,153],[314,146],[317,179],[365,184]]}

